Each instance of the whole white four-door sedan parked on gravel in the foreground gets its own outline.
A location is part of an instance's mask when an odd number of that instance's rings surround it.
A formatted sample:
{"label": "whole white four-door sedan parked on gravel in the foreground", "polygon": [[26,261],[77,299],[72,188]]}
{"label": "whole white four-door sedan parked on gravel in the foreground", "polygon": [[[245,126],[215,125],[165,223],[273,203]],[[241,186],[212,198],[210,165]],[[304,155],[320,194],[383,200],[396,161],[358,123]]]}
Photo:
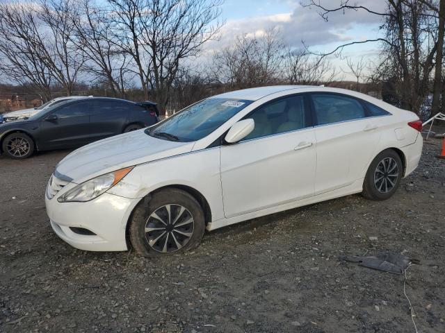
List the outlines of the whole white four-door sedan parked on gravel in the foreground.
{"label": "whole white four-door sedan parked on gravel in the foreground", "polygon": [[385,200],[419,164],[420,132],[416,114],[349,90],[228,92],[67,155],[47,213],[76,248],[176,253],[205,229],[360,192]]}

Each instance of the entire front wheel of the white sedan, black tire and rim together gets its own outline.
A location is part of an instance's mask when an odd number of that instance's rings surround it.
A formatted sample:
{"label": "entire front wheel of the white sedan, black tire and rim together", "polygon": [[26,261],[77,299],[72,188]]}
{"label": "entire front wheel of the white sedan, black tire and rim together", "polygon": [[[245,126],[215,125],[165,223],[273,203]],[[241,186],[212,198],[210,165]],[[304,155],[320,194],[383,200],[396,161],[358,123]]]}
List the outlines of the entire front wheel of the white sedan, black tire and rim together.
{"label": "entire front wheel of the white sedan, black tire and rim together", "polygon": [[193,196],[181,189],[163,189],[136,207],[129,225],[129,238],[139,255],[159,257],[195,248],[204,229],[204,212]]}

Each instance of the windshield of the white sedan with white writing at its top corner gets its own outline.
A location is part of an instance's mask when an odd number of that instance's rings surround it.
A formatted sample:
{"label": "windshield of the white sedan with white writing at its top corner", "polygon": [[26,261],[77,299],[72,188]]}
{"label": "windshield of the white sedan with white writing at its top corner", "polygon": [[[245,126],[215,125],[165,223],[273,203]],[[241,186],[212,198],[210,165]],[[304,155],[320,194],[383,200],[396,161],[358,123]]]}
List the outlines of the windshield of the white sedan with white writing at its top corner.
{"label": "windshield of the white sedan with white writing at its top corner", "polygon": [[193,142],[223,125],[252,101],[243,99],[204,99],[145,130],[152,137],[179,142]]}

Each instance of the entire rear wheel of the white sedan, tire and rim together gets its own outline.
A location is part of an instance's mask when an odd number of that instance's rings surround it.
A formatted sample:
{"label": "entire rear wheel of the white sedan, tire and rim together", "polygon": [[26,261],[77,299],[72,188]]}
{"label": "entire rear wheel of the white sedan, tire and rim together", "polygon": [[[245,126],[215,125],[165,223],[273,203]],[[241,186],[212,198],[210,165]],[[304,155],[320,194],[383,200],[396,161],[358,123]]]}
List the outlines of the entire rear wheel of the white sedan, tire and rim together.
{"label": "entire rear wheel of the white sedan, tire and rim together", "polygon": [[403,177],[401,157],[392,149],[378,154],[369,166],[362,195],[371,200],[387,200],[396,193]]}

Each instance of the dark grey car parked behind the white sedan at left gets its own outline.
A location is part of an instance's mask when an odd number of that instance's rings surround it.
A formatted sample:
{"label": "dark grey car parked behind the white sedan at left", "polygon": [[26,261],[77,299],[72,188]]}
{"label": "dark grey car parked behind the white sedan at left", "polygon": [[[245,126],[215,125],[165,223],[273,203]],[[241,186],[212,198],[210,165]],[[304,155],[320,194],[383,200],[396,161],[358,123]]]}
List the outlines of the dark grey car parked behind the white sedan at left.
{"label": "dark grey car parked behind the white sedan at left", "polygon": [[156,103],[90,97],[63,101],[26,120],[0,125],[0,153],[15,159],[34,151],[76,148],[158,121]]}

